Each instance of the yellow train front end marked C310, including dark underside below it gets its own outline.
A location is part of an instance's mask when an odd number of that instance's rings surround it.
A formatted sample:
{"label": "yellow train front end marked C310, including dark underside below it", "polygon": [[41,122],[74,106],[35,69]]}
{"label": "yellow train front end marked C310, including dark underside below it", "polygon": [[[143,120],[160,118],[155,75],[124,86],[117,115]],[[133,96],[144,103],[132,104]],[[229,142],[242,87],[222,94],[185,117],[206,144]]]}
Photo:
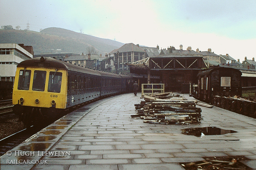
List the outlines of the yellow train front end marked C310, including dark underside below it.
{"label": "yellow train front end marked C310, including dark underside below it", "polygon": [[65,69],[18,65],[12,103],[20,121],[30,127],[60,116],[67,104],[67,74]]}

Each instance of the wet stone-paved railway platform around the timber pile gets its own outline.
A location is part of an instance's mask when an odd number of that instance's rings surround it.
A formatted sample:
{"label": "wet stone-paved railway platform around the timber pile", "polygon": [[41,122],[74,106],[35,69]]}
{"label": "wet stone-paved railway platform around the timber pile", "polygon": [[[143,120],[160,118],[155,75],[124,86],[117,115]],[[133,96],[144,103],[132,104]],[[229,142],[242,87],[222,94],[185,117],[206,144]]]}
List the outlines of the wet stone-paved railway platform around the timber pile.
{"label": "wet stone-paved railway platform around the timber pile", "polygon": [[[194,99],[184,95],[188,100]],[[1,169],[170,169],[205,157],[244,156],[256,169],[256,119],[201,106],[199,124],[148,124],[135,114],[140,94],[122,94],[75,110],[1,157]],[[196,137],[185,128],[237,131]]]}

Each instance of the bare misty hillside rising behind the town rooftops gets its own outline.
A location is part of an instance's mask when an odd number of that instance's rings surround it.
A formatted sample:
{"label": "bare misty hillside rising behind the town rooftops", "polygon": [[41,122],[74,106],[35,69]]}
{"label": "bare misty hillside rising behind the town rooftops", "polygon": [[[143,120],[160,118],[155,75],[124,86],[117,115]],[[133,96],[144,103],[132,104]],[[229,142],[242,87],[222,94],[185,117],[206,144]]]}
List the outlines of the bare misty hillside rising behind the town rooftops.
{"label": "bare misty hillside rising behind the town rooftops", "polygon": [[46,28],[41,32],[0,29],[0,43],[22,43],[31,45],[34,54],[53,53],[87,53],[88,46],[93,46],[103,56],[123,46],[123,43],[77,33],[62,28]]}

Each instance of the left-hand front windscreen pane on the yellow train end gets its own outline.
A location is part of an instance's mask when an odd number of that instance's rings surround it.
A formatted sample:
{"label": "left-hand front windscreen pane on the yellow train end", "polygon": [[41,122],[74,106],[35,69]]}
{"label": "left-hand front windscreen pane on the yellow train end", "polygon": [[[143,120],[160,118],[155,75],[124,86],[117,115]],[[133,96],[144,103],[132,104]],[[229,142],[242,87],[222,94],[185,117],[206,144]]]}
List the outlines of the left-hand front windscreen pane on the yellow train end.
{"label": "left-hand front windscreen pane on the yellow train end", "polygon": [[28,90],[30,83],[31,70],[20,70],[18,90]]}

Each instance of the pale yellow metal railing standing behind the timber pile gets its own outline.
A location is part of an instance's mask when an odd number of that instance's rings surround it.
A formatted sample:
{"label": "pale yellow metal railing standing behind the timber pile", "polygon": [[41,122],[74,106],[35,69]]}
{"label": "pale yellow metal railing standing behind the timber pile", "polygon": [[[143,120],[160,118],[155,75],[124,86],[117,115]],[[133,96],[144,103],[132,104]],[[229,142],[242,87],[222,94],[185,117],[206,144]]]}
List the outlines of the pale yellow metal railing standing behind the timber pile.
{"label": "pale yellow metal railing standing behind the timber pile", "polygon": [[141,96],[164,93],[164,84],[141,84]]}

